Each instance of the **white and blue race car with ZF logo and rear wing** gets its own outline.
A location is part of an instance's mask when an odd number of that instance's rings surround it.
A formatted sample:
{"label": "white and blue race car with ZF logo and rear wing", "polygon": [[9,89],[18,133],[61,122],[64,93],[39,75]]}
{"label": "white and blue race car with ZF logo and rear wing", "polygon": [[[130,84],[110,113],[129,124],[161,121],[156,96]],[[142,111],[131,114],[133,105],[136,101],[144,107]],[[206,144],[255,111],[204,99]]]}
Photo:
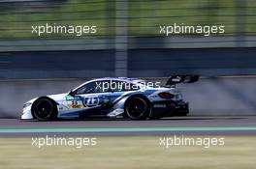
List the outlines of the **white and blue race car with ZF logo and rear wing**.
{"label": "white and blue race car with ZF logo and rear wing", "polygon": [[77,118],[132,120],[185,116],[188,102],[175,84],[195,82],[196,76],[171,76],[167,86],[138,78],[106,77],[87,81],[68,93],[31,99],[23,104],[21,119],[48,121]]}

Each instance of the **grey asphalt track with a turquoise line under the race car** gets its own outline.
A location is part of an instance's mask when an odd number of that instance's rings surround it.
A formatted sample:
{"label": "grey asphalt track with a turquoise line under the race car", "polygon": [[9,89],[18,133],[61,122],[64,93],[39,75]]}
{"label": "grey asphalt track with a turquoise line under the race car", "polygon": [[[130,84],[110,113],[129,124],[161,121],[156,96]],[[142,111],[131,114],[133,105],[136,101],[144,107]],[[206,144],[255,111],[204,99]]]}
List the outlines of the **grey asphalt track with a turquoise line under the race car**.
{"label": "grey asphalt track with a turquoise line under the race car", "polygon": [[173,117],[162,120],[58,120],[51,122],[0,119],[0,137],[23,136],[151,136],[255,135],[256,116]]}

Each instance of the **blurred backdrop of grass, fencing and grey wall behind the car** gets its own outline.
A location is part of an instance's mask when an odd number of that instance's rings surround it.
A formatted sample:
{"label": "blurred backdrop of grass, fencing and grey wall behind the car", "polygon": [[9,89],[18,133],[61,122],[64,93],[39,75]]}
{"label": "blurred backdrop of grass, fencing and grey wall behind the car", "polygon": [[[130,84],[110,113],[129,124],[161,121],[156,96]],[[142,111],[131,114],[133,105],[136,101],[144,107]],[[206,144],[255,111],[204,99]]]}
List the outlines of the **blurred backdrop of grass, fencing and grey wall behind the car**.
{"label": "blurred backdrop of grass, fencing and grey wall behind the car", "polygon": [[[32,34],[47,23],[96,25],[97,33]],[[159,33],[174,23],[224,25],[225,33]],[[255,0],[1,0],[0,113],[17,117],[27,99],[92,77],[200,74],[214,78],[183,88],[194,114],[255,115],[255,46]]]}

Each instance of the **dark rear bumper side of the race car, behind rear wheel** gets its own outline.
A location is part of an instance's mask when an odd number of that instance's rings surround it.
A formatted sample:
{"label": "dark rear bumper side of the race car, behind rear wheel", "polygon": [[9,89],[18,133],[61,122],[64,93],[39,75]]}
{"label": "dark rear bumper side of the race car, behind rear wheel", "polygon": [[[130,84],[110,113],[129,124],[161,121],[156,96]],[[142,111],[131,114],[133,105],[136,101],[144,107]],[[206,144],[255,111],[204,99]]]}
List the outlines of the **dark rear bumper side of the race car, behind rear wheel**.
{"label": "dark rear bumper side of the race car, behind rear wheel", "polygon": [[149,117],[186,116],[189,113],[188,102],[183,100],[165,100],[152,102],[152,111]]}

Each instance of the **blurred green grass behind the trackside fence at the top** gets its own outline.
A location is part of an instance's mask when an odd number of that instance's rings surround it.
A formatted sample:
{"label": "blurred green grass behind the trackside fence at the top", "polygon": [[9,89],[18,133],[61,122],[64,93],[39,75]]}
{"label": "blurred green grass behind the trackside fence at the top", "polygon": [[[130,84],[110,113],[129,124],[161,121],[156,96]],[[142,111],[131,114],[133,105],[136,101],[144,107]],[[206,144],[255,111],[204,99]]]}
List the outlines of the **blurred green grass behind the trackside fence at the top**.
{"label": "blurred green grass behind the trackside fence at the top", "polygon": [[[130,1],[129,32],[132,36],[159,36],[159,25],[184,23],[185,25],[224,24],[227,35],[233,35],[238,31],[236,25],[240,24],[245,27],[246,34],[254,34],[256,2],[247,1],[242,4],[240,11],[236,11],[238,4],[235,2],[235,0]],[[45,25],[47,22],[57,25],[97,25],[99,31],[95,36],[114,34],[115,3],[113,1],[67,0],[59,5],[41,6],[41,8],[33,8],[27,5],[3,10],[0,13],[0,37],[2,39],[38,38],[31,34],[31,25]],[[244,9],[246,13],[242,11]],[[237,19],[238,14],[247,14],[247,17]],[[54,37],[83,38],[70,35],[50,35],[47,38]]]}

